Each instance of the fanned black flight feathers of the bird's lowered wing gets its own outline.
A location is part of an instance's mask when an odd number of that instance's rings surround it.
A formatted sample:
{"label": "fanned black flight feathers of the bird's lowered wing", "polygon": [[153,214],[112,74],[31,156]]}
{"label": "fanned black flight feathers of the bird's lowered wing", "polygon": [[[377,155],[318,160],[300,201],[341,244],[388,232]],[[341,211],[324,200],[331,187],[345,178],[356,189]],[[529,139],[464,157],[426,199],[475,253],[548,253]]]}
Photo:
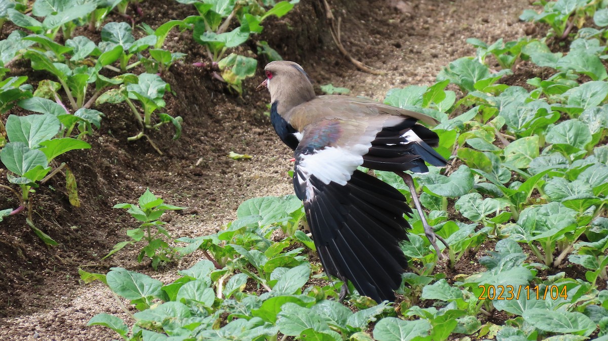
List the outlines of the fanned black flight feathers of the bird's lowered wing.
{"label": "fanned black flight feathers of the bird's lowered wing", "polygon": [[305,211],[317,252],[329,275],[349,279],[376,302],[394,300],[407,258],[399,243],[412,210],[395,188],[356,170],[345,186],[311,177]]}

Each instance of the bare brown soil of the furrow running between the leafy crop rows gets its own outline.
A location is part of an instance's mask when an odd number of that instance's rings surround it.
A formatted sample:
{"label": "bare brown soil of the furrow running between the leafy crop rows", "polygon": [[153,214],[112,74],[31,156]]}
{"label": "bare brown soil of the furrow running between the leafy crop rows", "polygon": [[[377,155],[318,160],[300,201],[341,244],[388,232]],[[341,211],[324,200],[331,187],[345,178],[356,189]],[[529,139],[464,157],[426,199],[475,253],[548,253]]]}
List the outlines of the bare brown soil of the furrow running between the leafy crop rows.
{"label": "bare brown soil of the furrow running between the leafy crop rows", "polygon": [[[342,19],[345,48],[384,75],[361,72],[340,54],[322,1],[302,1],[287,16],[269,19],[257,39],[268,41],[283,58],[300,62],[317,85],[333,83],[351,89],[351,95],[378,100],[394,87],[431,84],[450,61],[474,54],[466,38],[508,41],[534,33],[530,24],[517,19],[530,7],[528,0],[334,0],[330,5]],[[195,14],[173,1],[147,0],[142,8],[145,15],[137,22],[152,27]],[[12,29],[5,24],[0,38]],[[67,162],[77,177],[81,207],[70,206],[61,175],[34,194],[36,226],[60,245],[44,246],[24,215],[0,223],[0,340],[111,340],[116,337],[112,331],[86,323],[99,312],[120,316],[120,308],[101,283],[81,283],[79,267],[105,273],[122,266],[168,282],[176,267],[185,268],[202,257],[195,254],[159,272],[138,265],[135,250],[101,260],[114,244],[126,240],[127,229],[137,226],[112,206],[135,203],[146,187],[166,203],[187,207],[164,217],[175,238],[217,231],[235,218],[238,205],[248,198],[291,194],[291,151],[264,115],[268,94],[254,92],[263,80],[263,56],[258,58],[259,76],[244,81],[244,94],[238,97],[213,80],[209,69],[191,65],[205,61],[205,54],[190,35],[173,32],[166,43],[167,49],[188,57],[162,75],[173,92],[165,96],[166,112],[184,118],[179,140],[171,140],[169,127],[151,135],[164,155],[156,154],[145,140],[126,141],[137,132],[126,105],[103,106],[102,129],[88,140],[92,149],[58,160]],[[254,41],[247,44],[256,50]],[[528,78],[530,70],[520,69],[516,72]],[[50,77],[28,72],[27,62],[12,67],[12,75],[27,74],[32,84]],[[227,157],[231,151],[253,158],[232,160]],[[0,192],[0,207],[14,204],[8,192]]]}

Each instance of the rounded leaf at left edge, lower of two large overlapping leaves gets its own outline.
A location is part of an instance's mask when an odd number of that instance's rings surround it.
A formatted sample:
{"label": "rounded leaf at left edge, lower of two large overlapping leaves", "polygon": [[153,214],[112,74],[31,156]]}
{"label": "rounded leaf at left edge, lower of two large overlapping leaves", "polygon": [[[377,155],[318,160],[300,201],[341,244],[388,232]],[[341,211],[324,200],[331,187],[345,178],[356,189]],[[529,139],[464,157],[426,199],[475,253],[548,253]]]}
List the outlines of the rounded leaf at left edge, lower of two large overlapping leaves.
{"label": "rounded leaf at left edge, lower of two large overlapping leaves", "polygon": [[35,169],[36,166],[46,168],[48,165],[43,152],[38,149],[30,149],[27,144],[22,142],[7,143],[0,150],[0,161],[4,163],[8,170],[19,175],[19,177]]}

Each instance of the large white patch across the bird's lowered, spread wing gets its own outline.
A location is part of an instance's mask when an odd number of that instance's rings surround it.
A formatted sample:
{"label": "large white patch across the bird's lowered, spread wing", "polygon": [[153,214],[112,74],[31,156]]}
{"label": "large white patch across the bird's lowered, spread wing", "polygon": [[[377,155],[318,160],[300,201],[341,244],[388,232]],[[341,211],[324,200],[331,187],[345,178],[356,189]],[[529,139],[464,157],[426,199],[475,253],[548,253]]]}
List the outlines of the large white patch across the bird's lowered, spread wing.
{"label": "large white patch across the bird's lowered, spread wing", "polygon": [[302,185],[314,175],[324,184],[334,182],[344,186],[358,166],[363,164],[362,155],[369,147],[357,144],[352,149],[326,147],[314,154],[303,154],[299,160],[299,170],[304,178],[299,178]]}

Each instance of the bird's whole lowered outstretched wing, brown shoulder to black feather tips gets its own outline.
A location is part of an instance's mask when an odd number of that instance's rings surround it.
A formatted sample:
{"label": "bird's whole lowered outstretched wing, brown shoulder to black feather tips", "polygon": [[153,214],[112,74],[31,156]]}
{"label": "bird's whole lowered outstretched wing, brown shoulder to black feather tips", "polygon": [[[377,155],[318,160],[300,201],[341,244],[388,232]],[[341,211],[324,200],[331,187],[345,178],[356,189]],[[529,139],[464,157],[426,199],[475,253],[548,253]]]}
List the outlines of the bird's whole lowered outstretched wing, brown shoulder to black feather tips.
{"label": "bird's whole lowered outstretched wing, brown shoulder to black feather tips", "polygon": [[[407,258],[399,247],[411,214],[403,195],[356,168],[382,127],[324,120],[307,126],[295,150],[294,189],[327,274],[351,280],[377,302],[394,300]],[[418,155],[402,155],[415,166]]]}

